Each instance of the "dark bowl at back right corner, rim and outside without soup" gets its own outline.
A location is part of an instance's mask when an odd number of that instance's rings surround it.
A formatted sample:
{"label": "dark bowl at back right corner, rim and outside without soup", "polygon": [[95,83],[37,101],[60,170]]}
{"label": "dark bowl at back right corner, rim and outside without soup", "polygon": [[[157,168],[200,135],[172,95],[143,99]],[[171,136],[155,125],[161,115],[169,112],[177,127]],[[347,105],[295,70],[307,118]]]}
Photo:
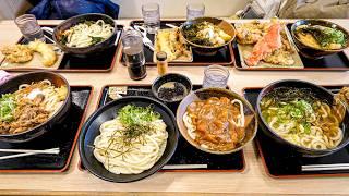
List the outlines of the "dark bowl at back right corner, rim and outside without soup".
{"label": "dark bowl at back right corner, rim and outside without soup", "polygon": [[[296,34],[296,29],[300,25],[322,25],[322,26],[339,29],[344,34],[347,35],[347,38],[348,38],[347,39],[347,45],[346,45],[346,47],[342,47],[340,49],[333,49],[333,50],[318,49],[318,48],[313,48],[313,47],[310,47],[308,45],[304,45],[298,38],[298,36]],[[293,25],[291,27],[291,35],[292,35],[293,41],[294,41],[298,50],[300,51],[300,53],[302,56],[306,57],[306,58],[310,58],[310,59],[320,59],[320,58],[322,58],[324,56],[329,56],[329,54],[333,54],[333,53],[340,52],[344,49],[349,47],[349,33],[346,30],[346,28],[344,28],[344,27],[341,27],[341,26],[339,26],[339,25],[337,25],[335,23],[332,23],[329,21],[323,21],[323,20],[300,20],[300,21],[297,21],[296,23],[293,23]]]}

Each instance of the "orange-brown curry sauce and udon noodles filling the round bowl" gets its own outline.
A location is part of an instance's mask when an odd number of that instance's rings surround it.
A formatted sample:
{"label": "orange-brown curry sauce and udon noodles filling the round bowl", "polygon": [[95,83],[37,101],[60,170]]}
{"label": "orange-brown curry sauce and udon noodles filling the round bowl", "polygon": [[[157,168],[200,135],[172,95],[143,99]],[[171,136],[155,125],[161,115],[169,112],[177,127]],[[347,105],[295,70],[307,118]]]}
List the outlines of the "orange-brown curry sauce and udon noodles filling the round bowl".
{"label": "orange-brown curry sauce and udon noodles filling the round bowl", "polygon": [[183,123],[203,148],[228,151],[244,138],[245,117],[239,99],[212,97],[188,106]]}

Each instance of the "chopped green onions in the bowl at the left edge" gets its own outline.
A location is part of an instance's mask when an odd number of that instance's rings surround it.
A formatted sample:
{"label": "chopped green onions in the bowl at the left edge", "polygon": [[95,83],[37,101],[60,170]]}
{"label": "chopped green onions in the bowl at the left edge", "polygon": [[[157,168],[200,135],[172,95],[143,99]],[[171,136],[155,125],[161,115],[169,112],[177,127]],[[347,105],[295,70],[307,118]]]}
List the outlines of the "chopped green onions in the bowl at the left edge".
{"label": "chopped green onions in the bowl at the left edge", "polygon": [[2,95],[0,98],[0,121],[13,121],[13,111],[15,107],[16,102],[12,94]]}

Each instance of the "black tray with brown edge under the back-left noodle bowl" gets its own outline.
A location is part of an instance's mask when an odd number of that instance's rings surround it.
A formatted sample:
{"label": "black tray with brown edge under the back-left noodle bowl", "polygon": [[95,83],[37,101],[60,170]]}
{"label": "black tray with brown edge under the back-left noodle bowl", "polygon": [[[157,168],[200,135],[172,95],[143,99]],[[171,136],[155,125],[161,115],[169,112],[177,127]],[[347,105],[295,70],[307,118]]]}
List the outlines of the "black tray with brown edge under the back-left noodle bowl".
{"label": "black tray with brown edge under the back-left noodle bowl", "polygon": [[[51,28],[56,27],[55,25],[41,25],[41,26],[47,26]],[[118,28],[117,38],[116,38],[117,46],[113,46],[110,49],[104,51],[103,54],[99,54],[99,56],[92,54],[88,58],[76,58],[68,53],[62,53],[63,57],[61,58],[60,64],[58,65],[57,69],[46,69],[43,65],[43,66],[39,66],[39,69],[29,69],[29,68],[7,69],[7,68],[0,66],[0,70],[4,70],[9,72],[12,72],[12,71],[25,72],[25,71],[35,71],[35,70],[50,70],[53,72],[75,72],[75,73],[76,72],[80,72],[80,73],[110,72],[117,62],[118,51],[120,47],[120,37],[123,30],[123,26],[117,25],[117,28]],[[51,35],[46,33],[45,35],[51,38]],[[46,42],[52,44],[48,40]],[[25,40],[24,37],[21,37],[17,44],[27,44],[27,40]],[[4,59],[1,61],[0,64],[2,64],[3,62],[4,62]]]}

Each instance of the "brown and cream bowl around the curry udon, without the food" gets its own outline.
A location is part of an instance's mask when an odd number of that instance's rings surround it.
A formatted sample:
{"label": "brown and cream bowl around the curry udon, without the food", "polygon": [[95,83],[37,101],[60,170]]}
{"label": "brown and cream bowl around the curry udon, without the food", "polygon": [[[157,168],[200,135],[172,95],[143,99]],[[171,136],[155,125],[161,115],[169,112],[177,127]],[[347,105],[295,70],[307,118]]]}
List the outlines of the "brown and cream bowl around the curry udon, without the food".
{"label": "brown and cream bowl around the curry udon, without the food", "polygon": [[[210,97],[227,97],[230,100],[239,99],[243,105],[243,113],[245,115],[245,127],[244,127],[245,137],[233,149],[226,150],[226,151],[218,151],[218,150],[204,148],[197,142],[195,142],[188,133],[188,128],[183,122],[183,115],[186,112],[188,106],[193,101],[206,100]],[[195,148],[209,154],[225,155],[225,154],[232,154],[232,152],[239,151],[244,146],[246,146],[251,140],[253,140],[257,132],[256,113],[254,112],[253,107],[250,105],[250,102],[245,100],[243,97],[241,97],[239,94],[228,89],[224,89],[224,88],[201,88],[198,90],[192,91],[179,105],[176,117],[177,117],[177,125],[179,127],[179,131],[181,135],[185,138],[185,140],[190,143],[192,146],[194,146]]]}

